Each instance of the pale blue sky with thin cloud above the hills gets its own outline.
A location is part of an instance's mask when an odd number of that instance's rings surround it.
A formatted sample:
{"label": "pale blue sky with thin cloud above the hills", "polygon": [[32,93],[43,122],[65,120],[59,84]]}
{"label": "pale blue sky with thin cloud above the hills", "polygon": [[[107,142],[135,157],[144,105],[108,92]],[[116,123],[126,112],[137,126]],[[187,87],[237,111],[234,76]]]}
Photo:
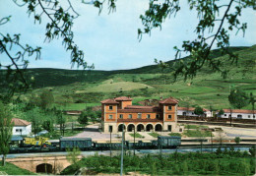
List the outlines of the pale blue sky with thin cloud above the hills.
{"label": "pale blue sky with thin cloud above the hills", "polygon": [[[18,0],[19,1],[19,0]],[[87,1],[87,0],[86,0]],[[89,0],[88,0],[89,1]],[[140,15],[149,7],[149,0],[118,0],[116,12],[108,14],[107,3],[98,15],[93,5],[71,1],[80,17],[74,21],[74,40],[85,52],[88,65],[95,64],[96,70],[123,70],[153,65],[155,58],[162,61],[174,59],[174,46],[180,47],[183,40],[195,38],[197,14],[181,1],[183,7],[175,18],[167,19],[161,29],[153,29],[138,40],[137,30],[142,28]],[[182,4],[183,3],[183,4]],[[19,7],[11,0],[0,0],[0,18],[12,16],[11,22],[0,26],[2,33],[21,33],[21,42],[41,46],[41,59],[30,58],[29,68],[71,69],[70,52],[62,45],[61,38],[44,42],[45,16],[41,24],[34,24],[27,14],[27,7]],[[245,36],[242,32],[230,33],[231,46],[251,46],[256,44],[256,12],[246,9],[240,17],[247,22]],[[183,55],[185,56],[185,55]],[[0,63],[10,61],[0,55]],[[76,69],[76,68],[73,68]]]}

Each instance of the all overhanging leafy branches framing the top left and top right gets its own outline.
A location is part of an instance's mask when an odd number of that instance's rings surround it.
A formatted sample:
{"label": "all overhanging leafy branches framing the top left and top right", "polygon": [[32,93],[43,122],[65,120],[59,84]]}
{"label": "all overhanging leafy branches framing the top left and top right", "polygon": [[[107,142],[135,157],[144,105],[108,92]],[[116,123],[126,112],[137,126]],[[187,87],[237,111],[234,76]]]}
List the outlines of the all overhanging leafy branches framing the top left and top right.
{"label": "all overhanging leafy branches framing the top left and top right", "polygon": [[[83,4],[91,4],[98,8],[99,13],[102,10],[103,2],[99,0],[88,2],[82,0]],[[115,11],[115,2],[116,0],[108,0],[109,13]],[[34,23],[46,22],[45,41],[57,38],[62,39],[63,46],[70,52],[72,66],[77,65],[84,69],[90,69],[90,66],[84,60],[83,50],[80,50],[74,41],[72,26],[74,20],[80,15],[76,12],[70,0],[14,0],[14,3],[20,7],[28,7],[28,14],[34,19]],[[152,29],[161,28],[162,23],[167,17],[175,16],[182,8],[179,0],[150,0],[149,3],[149,9],[144,15],[140,16],[144,29],[138,29],[139,40],[142,39],[143,33],[150,34]],[[185,79],[193,78],[196,76],[197,71],[205,64],[208,64],[212,70],[222,73],[225,77],[227,71],[221,68],[224,63],[211,58],[211,49],[214,46],[221,48],[222,55],[227,54],[231,62],[237,61],[238,56],[228,49],[228,32],[236,29],[237,32],[242,30],[244,34],[247,24],[240,22],[238,17],[241,16],[246,8],[253,8],[255,10],[255,0],[188,0],[188,5],[190,10],[194,10],[198,14],[198,25],[195,28],[197,36],[192,41],[183,41],[182,49],[174,47],[176,59],[181,57],[181,53],[190,54],[189,60],[175,62],[175,65],[171,66],[174,78],[178,75],[184,76]],[[0,25],[5,25],[10,19],[11,16],[0,19]],[[11,64],[1,65],[1,67],[8,70],[6,82],[11,90],[9,91],[10,96],[15,91],[30,88],[32,78],[26,78],[25,71],[22,69],[28,67],[29,59],[32,57],[35,59],[40,58],[41,48],[38,46],[34,48],[29,44],[23,45],[20,42],[20,38],[21,34],[10,35],[9,33],[4,34],[0,32],[0,53],[6,54],[11,61]],[[12,50],[12,48],[15,49]],[[29,56],[29,59],[27,59],[27,56]]]}

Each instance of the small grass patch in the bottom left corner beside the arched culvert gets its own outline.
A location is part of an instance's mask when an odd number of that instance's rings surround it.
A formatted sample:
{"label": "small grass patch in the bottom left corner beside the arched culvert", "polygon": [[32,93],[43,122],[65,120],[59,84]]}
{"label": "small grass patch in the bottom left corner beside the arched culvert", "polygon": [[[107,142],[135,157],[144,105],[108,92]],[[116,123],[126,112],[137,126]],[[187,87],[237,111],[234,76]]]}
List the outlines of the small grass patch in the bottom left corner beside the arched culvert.
{"label": "small grass patch in the bottom left corner beside the arched culvert", "polygon": [[2,166],[1,162],[0,164],[0,175],[1,172],[5,172],[8,175],[36,175],[36,173],[32,173],[28,170],[17,167],[16,165],[9,162],[6,162],[5,166]]}

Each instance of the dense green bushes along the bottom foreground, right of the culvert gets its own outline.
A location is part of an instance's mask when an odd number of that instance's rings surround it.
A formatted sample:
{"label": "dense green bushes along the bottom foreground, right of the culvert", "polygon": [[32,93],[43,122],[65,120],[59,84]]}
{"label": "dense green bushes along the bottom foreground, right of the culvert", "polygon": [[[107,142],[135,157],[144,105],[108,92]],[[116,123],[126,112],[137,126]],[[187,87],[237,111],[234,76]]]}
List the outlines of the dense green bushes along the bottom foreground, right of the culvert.
{"label": "dense green bushes along the bottom foreground, right of the culvert", "polygon": [[[120,155],[113,157],[98,155],[82,158],[82,167],[96,173],[119,173]],[[255,158],[243,156],[239,150],[226,149],[220,153],[188,152],[159,155],[124,155],[124,172],[138,171],[141,174],[151,175],[215,175],[220,172],[224,175],[255,174]],[[243,167],[239,167],[242,165]],[[66,175],[74,174],[69,168],[63,171]]]}

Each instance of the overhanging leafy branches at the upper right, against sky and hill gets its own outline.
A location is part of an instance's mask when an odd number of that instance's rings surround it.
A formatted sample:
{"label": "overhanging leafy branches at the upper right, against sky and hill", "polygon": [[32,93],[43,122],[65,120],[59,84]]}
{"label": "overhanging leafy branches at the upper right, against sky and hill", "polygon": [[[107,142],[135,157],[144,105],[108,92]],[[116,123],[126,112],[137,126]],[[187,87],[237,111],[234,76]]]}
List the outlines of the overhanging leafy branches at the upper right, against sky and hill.
{"label": "overhanging leafy branches at the upper right, against sky and hill", "polygon": [[[189,53],[190,59],[170,66],[174,71],[173,76],[177,78],[181,75],[184,79],[194,78],[198,70],[208,64],[213,71],[221,72],[225,78],[227,70],[221,68],[224,63],[212,59],[210,51],[216,44],[218,48],[221,48],[222,55],[228,55],[231,63],[237,61],[237,55],[228,49],[228,32],[236,29],[237,32],[242,30],[244,34],[247,24],[240,23],[238,17],[245,8],[254,8],[255,4],[256,2],[252,0],[224,2],[189,0],[190,10],[198,14],[198,25],[195,28],[197,36],[192,41],[183,41],[182,49],[174,47],[175,59],[180,58],[181,53]],[[144,29],[138,29],[138,37],[141,39],[143,33],[150,34],[152,29],[161,28],[164,20],[175,16],[181,8],[179,0],[150,1],[149,9],[145,15],[140,16]],[[221,11],[224,13],[220,13]]]}

